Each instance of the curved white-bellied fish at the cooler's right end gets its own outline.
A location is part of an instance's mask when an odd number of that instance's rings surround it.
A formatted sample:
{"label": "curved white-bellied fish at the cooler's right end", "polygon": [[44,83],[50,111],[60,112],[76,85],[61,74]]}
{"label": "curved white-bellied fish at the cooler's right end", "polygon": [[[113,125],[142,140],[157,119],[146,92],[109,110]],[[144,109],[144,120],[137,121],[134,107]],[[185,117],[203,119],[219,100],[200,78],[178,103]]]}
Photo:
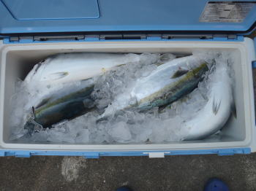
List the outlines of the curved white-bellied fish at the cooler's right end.
{"label": "curved white-bellied fish at the cooler's right end", "polygon": [[200,140],[220,130],[227,122],[230,114],[236,117],[236,106],[233,100],[231,79],[228,66],[216,64],[214,82],[208,94],[208,101],[196,116],[187,120],[182,127],[187,130],[184,140]]}

